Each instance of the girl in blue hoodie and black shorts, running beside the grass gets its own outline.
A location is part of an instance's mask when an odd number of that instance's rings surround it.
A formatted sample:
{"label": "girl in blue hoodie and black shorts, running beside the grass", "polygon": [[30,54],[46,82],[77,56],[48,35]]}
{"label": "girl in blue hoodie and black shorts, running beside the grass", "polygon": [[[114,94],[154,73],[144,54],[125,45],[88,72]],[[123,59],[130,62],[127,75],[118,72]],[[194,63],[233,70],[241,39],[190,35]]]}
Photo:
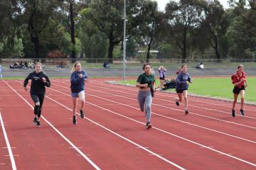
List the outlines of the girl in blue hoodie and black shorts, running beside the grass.
{"label": "girl in blue hoodie and black shorts, running beside the grass", "polygon": [[182,101],[182,94],[185,101],[185,114],[188,114],[188,83],[192,83],[190,75],[187,73],[188,67],[186,64],[181,66],[181,72],[176,77],[176,93],[178,98],[175,99],[176,105]]}

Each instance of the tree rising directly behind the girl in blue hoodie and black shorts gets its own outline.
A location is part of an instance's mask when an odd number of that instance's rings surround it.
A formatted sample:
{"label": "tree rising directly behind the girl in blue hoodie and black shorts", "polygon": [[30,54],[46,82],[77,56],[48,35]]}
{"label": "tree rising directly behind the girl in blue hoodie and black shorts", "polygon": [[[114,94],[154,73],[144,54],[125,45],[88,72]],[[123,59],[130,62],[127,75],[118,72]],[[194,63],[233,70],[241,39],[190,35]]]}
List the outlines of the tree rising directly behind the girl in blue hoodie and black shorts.
{"label": "tree rising directly behind the girl in blue hoodie and black shorts", "polygon": [[199,0],[181,0],[179,3],[170,1],[166,5],[166,18],[171,26],[171,35],[182,51],[182,62],[186,62],[188,31],[200,26],[204,17]]}

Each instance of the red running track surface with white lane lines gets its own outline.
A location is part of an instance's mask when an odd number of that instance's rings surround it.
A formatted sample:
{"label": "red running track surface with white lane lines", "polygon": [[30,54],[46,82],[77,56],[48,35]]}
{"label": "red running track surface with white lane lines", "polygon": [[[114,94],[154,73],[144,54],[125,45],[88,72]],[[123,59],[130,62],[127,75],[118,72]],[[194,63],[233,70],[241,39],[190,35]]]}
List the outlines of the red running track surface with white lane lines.
{"label": "red running track surface with white lane lines", "polygon": [[157,92],[154,128],[145,130],[137,89],[105,80],[86,85],[85,118],[78,125],[71,120],[69,80],[52,80],[41,128],[32,123],[33,102],[23,82],[1,80],[0,169],[256,169],[256,106],[232,118],[230,102],[189,96],[184,115],[176,94]]}

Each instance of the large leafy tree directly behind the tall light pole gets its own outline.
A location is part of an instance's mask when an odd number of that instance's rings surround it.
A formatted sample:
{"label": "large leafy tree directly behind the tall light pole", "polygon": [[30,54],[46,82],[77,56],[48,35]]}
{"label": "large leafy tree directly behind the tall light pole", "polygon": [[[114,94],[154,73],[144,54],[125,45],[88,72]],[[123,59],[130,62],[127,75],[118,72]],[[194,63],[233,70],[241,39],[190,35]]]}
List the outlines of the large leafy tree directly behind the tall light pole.
{"label": "large leafy tree directly behind the tall light pole", "polygon": [[[136,22],[142,1],[127,1],[127,35],[130,38],[139,24]],[[108,58],[113,62],[114,45],[118,45],[123,39],[123,1],[100,1],[93,0],[86,13],[86,18],[104,33],[109,41]]]}

